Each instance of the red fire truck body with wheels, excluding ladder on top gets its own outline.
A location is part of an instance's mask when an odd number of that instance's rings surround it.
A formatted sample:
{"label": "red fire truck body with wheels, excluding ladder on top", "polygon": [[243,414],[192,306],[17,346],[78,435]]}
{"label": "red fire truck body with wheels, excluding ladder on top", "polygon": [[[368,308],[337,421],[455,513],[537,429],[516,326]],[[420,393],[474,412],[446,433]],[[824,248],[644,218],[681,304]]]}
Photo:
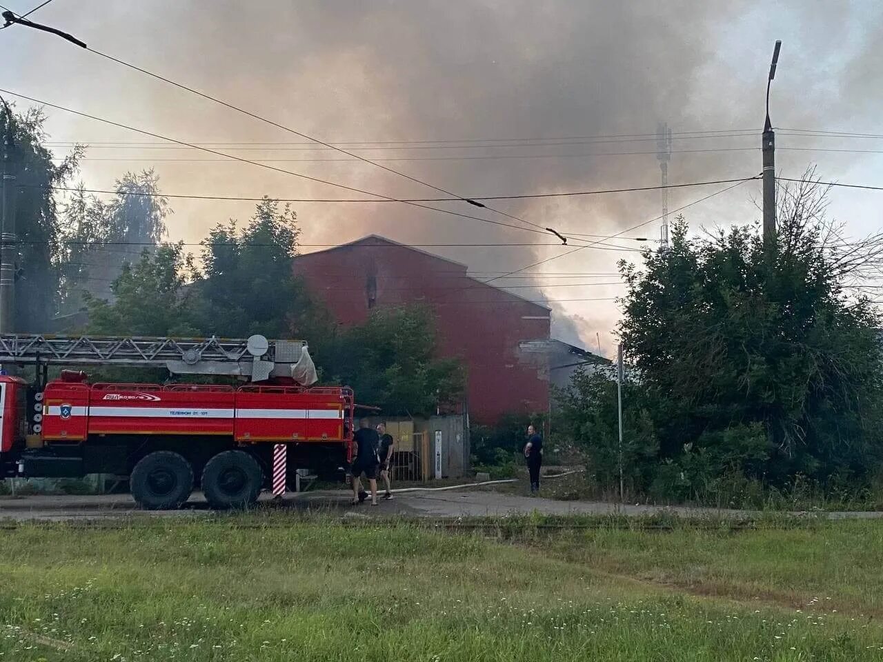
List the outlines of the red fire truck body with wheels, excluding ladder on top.
{"label": "red fire truck body with wheels, excluding ladder on top", "polygon": [[89,383],[64,370],[41,387],[0,375],[0,478],[111,474],[129,479],[141,508],[180,508],[194,488],[213,508],[243,508],[269,485],[280,444],[288,476],[341,477],[354,407],[349,387],[285,377]]}

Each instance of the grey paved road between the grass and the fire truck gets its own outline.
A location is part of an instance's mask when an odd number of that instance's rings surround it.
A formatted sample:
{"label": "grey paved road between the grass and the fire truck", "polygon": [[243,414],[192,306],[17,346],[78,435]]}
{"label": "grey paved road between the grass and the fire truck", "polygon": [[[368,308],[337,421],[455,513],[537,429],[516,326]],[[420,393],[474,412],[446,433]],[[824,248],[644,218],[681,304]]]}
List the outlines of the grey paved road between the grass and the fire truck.
{"label": "grey paved road between the grass and the fire truck", "polygon": [[[495,493],[485,490],[464,489],[435,492],[411,492],[396,494],[391,501],[381,501],[379,507],[369,504],[358,507],[349,505],[350,494],[340,491],[310,492],[288,495],[282,508],[328,509],[329,511],[355,513],[358,515],[383,516],[406,515],[418,517],[502,516],[528,515],[540,512],[545,515],[613,514],[649,515],[673,513],[683,516],[748,515],[746,511],[717,510],[713,508],[666,508],[657,506],[620,506],[597,501],[557,501],[551,499]],[[269,495],[261,500],[270,500]],[[137,517],[199,517],[212,511],[200,493],[195,493],[182,510],[147,512],[135,508],[128,494],[101,496],[26,496],[0,497],[0,520],[88,520],[126,516]],[[883,512],[831,513],[831,517],[883,517]]]}

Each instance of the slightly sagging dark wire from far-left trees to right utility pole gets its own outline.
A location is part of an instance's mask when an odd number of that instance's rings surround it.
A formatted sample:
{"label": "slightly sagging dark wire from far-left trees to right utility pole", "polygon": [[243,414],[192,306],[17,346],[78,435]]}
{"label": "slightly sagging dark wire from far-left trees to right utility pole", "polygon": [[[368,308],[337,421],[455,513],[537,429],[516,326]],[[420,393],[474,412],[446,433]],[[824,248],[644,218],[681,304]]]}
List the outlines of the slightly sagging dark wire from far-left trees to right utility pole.
{"label": "slightly sagging dark wire from far-left trees to right utility pole", "polygon": [[[630,192],[642,192],[642,191],[659,191],[660,189],[679,189],[679,188],[688,188],[691,186],[707,186],[710,184],[731,184],[734,182],[742,182],[744,177],[739,179],[714,179],[711,181],[705,182],[688,182],[684,184],[667,184],[665,186],[660,186],[659,184],[655,186],[633,186],[630,188],[620,188],[620,189],[600,189],[596,191],[567,191],[567,192],[550,192],[550,193],[515,193],[512,195],[479,195],[472,196],[472,199],[477,200],[503,200],[503,199],[534,199],[534,198],[566,198],[566,197],[575,197],[575,196],[587,196],[587,195],[602,195],[608,193],[630,193]],[[199,194],[185,194],[185,193],[148,193],[148,192],[140,192],[140,191],[121,191],[121,190],[113,190],[113,189],[87,189],[87,188],[79,188],[77,186],[56,186],[56,185],[42,185],[42,184],[34,184],[34,188],[46,188],[52,191],[68,191],[68,192],[77,192],[82,191],[86,193],[107,193],[110,195],[132,195],[132,196],[140,196],[140,197],[148,197],[148,198],[176,198],[176,199],[205,199],[205,200],[233,200],[233,201],[241,201],[241,202],[260,202],[264,199],[264,197],[255,198],[255,197],[247,197],[247,196],[231,196],[231,195],[199,195]],[[449,198],[402,198],[402,199],[369,199],[369,198],[275,198],[272,196],[267,196],[270,199],[274,199],[278,202],[451,202],[452,200]]]}

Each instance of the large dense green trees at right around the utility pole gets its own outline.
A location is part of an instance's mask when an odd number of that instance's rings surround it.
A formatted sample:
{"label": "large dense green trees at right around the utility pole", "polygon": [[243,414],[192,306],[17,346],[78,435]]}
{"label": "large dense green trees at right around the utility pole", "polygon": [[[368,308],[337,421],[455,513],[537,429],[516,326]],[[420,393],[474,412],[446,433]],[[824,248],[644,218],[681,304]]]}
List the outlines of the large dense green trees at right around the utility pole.
{"label": "large dense green trees at right around the utility pole", "polygon": [[[756,229],[691,239],[679,219],[667,251],[646,252],[640,272],[623,265],[625,466],[637,492],[690,498],[732,474],[860,485],[879,470],[879,318],[844,287],[862,259],[819,220],[822,199],[783,197],[773,260]],[[583,373],[561,400],[609,482],[615,383]]]}

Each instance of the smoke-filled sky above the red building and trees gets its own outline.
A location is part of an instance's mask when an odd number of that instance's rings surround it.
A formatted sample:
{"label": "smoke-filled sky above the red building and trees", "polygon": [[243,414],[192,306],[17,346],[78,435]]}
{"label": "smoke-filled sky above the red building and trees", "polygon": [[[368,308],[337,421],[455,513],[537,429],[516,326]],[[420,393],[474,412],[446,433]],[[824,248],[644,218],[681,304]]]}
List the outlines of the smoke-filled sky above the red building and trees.
{"label": "smoke-filled sky above the red building and trees", "polygon": [[[40,3],[2,4],[22,14]],[[814,165],[824,179],[883,184],[883,139],[793,131],[883,134],[879,3],[52,0],[29,18],[464,197],[657,185],[660,123],[673,132],[672,184],[757,175],[766,75],[780,39],[771,95],[779,174],[799,177]],[[308,177],[390,197],[445,197],[22,26],[0,31],[0,87]],[[4,96],[19,109],[31,105]],[[365,197],[62,110],[46,113],[58,156],[74,141],[88,146],[79,173],[87,188],[108,189],[126,170],[153,168],[166,193]],[[689,205],[680,213],[697,232],[758,222],[759,182],[698,201],[728,185],[674,189],[668,207]],[[881,195],[837,189],[828,211],[860,237],[879,229]],[[483,280],[572,250],[531,231],[536,226],[622,233],[605,240],[615,247],[586,247],[520,274],[530,277],[494,282],[548,301],[553,335],[614,353],[612,299],[624,288],[608,274],[618,260],[640,263],[634,249],[647,243],[636,239],[658,246],[659,191],[494,201],[527,223],[464,202],[433,204],[519,227],[401,203],[292,206],[304,252],[375,233],[463,262]],[[171,207],[169,238],[192,243],[217,222],[253,213],[245,201],[172,199]],[[631,250],[616,248],[623,246]]]}

